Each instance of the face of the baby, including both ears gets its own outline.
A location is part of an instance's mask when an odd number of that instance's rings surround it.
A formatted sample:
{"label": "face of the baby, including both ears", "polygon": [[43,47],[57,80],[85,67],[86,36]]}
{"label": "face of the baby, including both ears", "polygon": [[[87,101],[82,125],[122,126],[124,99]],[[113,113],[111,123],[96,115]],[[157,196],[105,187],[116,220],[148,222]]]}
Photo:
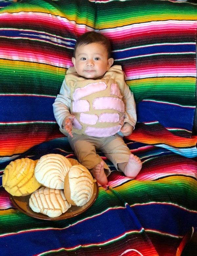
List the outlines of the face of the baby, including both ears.
{"label": "face of the baby, including both ears", "polygon": [[72,58],[77,74],[87,79],[99,79],[111,67],[114,60],[107,56],[106,48],[99,43],[78,46]]}

